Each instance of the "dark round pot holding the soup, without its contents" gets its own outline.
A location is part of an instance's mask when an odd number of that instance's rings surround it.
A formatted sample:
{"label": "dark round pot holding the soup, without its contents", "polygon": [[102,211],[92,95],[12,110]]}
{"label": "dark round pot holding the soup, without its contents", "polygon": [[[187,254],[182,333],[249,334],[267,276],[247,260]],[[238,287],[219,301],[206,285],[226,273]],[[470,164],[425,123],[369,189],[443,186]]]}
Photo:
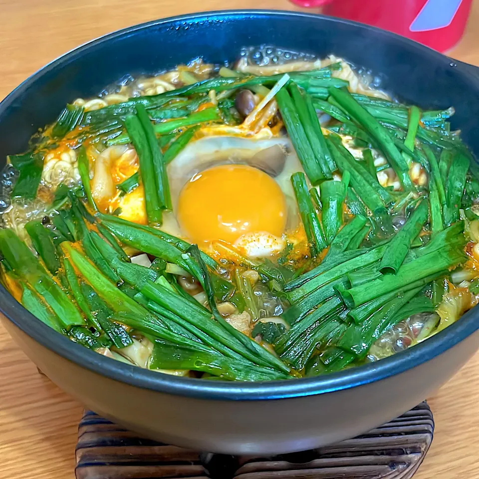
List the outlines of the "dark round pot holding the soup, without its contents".
{"label": "dark round pot holding the soup, without its contents", "polygon": [[[25,150],[65,103],[96,95],[126,73],[153,73],[198,56],[221,63],[243,46],[262,44],[334,53],[381,74],[382,86],[405,102],[454,105],[453,128],[479,154],[479,69],[354,22],[223,11],[126,28],[46,65],[0,103],[0,161]],[[0,311],[31,360],[89,409],[156,440],[229,454],[300,451],[364,433],[428,397],[479,346],[474,308],[433,338],[378,363],[316,378],[237,384],[172,377],[100,356],[49,329],[1,286]]]}

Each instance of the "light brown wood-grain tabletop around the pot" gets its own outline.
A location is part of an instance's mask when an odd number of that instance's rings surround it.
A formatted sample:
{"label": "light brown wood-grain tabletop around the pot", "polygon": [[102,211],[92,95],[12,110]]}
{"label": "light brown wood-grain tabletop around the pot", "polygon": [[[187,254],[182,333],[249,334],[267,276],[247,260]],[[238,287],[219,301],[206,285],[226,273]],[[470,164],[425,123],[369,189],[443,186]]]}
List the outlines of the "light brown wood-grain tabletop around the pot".
{"label": "light brown wood-grain tabletop around the pot", "polygon": [[[0,99],[67,50],[135,23],[196,10],[298,9],[287,0],[0,0]],[[479,1],[451,56],[479,65]],[[479,120],[478,120],[479,121]],[[417,479],[479,479],[479,354],[429,399],[436,432]],[[82,407],[0,325],[0,478],[72,479]]]}

